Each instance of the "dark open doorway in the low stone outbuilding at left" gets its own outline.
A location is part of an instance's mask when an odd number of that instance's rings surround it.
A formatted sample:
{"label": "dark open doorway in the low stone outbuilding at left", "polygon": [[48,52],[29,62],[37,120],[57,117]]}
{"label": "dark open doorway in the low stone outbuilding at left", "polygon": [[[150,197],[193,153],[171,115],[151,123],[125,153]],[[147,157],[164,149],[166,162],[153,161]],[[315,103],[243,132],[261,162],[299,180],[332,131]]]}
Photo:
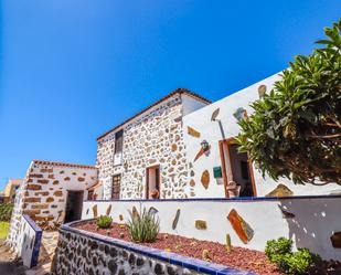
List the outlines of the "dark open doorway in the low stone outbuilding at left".
{"label": "dark open doorway in the low stone outbuilding at left", "polygon": [[66,201],[64,223],[81,220],[83,195],[84,191],[67,190],[67,201]]}

